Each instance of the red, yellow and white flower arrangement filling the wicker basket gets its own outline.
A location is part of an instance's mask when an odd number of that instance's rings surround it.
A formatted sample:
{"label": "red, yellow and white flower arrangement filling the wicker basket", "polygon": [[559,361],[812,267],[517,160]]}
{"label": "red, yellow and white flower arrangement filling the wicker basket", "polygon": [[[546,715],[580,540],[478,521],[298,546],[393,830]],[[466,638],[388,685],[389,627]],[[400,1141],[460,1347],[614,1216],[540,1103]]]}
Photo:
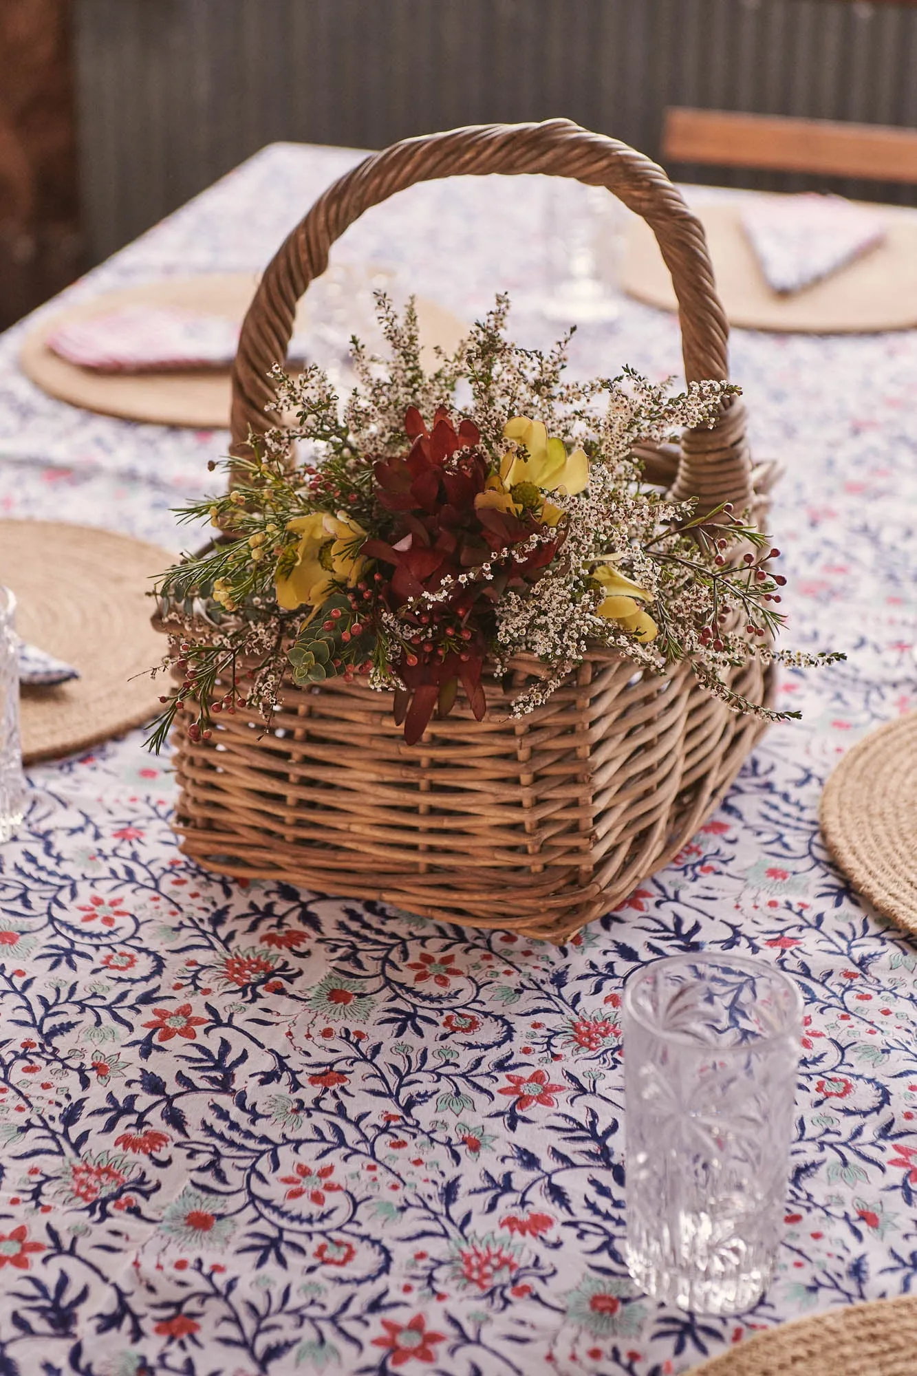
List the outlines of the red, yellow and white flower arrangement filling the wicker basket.
{"label": "red, yellow and white flower arrangement filling the wicker basket", "polygon": [[514,344],[505,296],[425,376],[413,304],[399,319],[379,293],[379,311],[390,358],[354,340],[346,403],[315,365],[295,380],[277,366],[277,406],[297,422],[252,435],[253,457],[226,461],[230,490],[183,509],[233,538],[161,581],[183,678],[154,747],[178,713],[207,740],[223,711],[270,722],[285,677],[339,674],[388,692],[416,744],[460,689],[481,721],[487,681],[514,656],[547,669],[514,698],[520,717],[596,648],[653,673],[686,660],[735,711],[799,716],[749,702],[726,677],[781,656],[779,550],[728,502],[698,515],[697,499],[669,501],[633,453],[713,424],[737,387],[671,395],[631,369],[566,383],[569,336],[549,354]]}

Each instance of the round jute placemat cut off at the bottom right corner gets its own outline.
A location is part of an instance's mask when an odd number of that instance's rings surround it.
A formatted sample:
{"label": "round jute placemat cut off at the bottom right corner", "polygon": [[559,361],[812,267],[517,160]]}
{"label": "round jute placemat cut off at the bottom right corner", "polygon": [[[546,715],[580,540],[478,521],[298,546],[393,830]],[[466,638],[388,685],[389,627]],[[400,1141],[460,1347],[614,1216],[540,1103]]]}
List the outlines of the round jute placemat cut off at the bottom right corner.
{"label": "round jute placemat cut off at the bottom right corner", "polygon": [[914,1376],[917,1295],[797,1318],[693,1368],[690,1376]]}

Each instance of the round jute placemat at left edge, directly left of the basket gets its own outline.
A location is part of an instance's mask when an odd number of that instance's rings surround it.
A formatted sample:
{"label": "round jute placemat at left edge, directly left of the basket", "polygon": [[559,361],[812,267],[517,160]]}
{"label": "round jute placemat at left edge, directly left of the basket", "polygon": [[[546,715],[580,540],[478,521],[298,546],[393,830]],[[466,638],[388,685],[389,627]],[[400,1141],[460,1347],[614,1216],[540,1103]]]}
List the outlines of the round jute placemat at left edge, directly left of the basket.
{"label": "round jute placemat at left edge, directly left of the basket", "polygon": [[0,583],[17,597],[17,630],[80,670],[54,688],[22,688],[26,764],[73,754],[150,721],[162,658],[145,594],[172,556],[125,535],[58,522],[0,522]]}

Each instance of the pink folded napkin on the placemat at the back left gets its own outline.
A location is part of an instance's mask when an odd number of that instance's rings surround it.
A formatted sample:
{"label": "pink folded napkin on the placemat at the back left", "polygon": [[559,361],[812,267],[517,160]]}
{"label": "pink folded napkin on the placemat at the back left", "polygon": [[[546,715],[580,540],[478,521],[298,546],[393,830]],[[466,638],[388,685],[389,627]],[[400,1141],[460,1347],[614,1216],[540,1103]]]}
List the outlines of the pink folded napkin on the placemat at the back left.
{"label": "pink folded napkin on the placemat at the back left", "polygon": [[[238,332],[238,325],[222,315],[124,305],[61,325],[47,344],[69,363],[96,373],[173,373],[229,367],[235,358]],[[297,336],[288,358],[306,356],[306,341]]]}

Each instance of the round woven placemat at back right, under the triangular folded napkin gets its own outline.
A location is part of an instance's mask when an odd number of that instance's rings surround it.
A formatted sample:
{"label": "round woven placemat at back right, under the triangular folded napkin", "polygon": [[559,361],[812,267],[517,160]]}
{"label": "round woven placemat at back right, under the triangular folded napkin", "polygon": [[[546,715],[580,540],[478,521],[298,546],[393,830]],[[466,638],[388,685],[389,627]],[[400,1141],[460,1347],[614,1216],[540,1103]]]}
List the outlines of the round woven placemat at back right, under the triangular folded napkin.
{"label": "round woven placemat at back right, under the triangular folded napkin", "polygon": [[[790,296],[767,285],[735,204],[709,202],[695,209],[731,325],[803,334],[869,334],[917,325],[917,223],[894,208],[884,244]],[[676,308],[672,278],[646,220],[635,219],[629,227],[621,285],[650,305]]]}

